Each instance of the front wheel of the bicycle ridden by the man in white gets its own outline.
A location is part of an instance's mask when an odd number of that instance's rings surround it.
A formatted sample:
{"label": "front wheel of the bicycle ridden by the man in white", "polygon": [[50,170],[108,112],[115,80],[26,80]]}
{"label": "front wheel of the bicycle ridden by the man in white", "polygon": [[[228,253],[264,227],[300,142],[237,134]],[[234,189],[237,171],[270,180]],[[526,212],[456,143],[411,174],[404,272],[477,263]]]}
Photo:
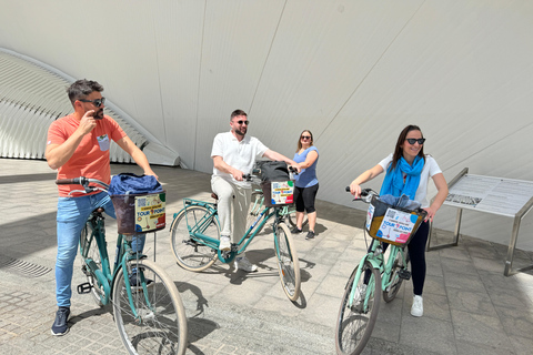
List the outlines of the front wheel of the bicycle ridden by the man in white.
{"label": "front wheel of the bicycle ridden by the man in white", "polygon": [[300,296],[300,263],[291,231],[284,223],[278,224],[274,233],[274,248],[283,291],[289,300],[296,301]]}

